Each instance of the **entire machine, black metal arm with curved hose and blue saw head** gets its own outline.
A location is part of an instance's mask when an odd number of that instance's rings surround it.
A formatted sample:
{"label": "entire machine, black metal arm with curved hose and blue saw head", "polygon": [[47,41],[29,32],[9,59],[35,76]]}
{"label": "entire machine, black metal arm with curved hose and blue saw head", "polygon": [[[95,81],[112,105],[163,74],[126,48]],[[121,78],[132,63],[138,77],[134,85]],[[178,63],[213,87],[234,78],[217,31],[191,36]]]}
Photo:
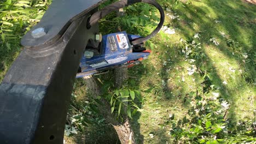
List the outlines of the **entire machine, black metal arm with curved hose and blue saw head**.
{"label": "entire machine, black metal arm with curved hose and blue saw head", "polygon": [[[0,143],[63,143],[75,77],[131,67],[148,58],[143,44],[164,23],[161,6],[155,0],[121,0],[98,10],[103,2],[54,0],[22,37],[24,49],[0,85]],[[100,19],[138,2],[160,11],[151,34],[100,34]]]}

